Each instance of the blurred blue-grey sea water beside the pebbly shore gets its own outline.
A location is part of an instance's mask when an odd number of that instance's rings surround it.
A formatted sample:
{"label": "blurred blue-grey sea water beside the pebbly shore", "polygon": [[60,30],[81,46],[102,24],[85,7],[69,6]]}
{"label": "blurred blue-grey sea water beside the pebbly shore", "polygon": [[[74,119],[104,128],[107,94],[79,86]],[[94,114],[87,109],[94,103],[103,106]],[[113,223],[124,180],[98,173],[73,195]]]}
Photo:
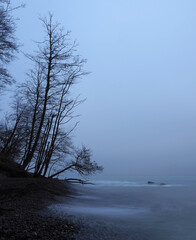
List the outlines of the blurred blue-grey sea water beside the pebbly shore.
{"label": "blurred blue-grey sea water beside the pebbly shore", "polygon": [[196,178],[148,180],[94,181],[50,209],[85,222],[78,239],[195,240]]}

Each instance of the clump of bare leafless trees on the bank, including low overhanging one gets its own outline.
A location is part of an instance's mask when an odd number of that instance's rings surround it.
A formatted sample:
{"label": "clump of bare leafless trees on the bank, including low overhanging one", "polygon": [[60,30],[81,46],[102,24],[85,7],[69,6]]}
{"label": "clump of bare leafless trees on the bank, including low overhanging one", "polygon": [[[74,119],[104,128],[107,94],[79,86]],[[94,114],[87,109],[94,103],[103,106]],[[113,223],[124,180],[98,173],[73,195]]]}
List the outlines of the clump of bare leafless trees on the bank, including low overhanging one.
{"label": "clump of bare leafless trees on the bank, including low overhanging one", "polygon": [[70,134],[77,123],[67,129],[74,108],[83,102],[79,97],[73,99],[70,92],[76,80],[87,74],[85,60],[76,55],[70,33],[54,24],[51,14],[41,21],[45,39],[38,44],[36,55],[27,55],[34,67],[19,87],[16,121],[2,151],[20,139],[17,159],[35,176],[56,177],[67,170],[86,176],[102,167],[91,161],[89,149],[73,146]]}

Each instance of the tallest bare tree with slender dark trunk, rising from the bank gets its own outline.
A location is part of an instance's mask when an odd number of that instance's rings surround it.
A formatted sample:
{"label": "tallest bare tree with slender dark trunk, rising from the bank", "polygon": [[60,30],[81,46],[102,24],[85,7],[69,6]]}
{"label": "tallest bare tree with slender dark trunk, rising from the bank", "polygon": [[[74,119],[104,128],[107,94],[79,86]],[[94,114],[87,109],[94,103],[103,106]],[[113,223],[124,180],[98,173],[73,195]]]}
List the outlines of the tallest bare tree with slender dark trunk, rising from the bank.
{"label": "tallest bare tree with slender dark trunk, rising from the bank", "polygon": [[[42,138],[42,131],[48,126],[46,122],[54,120],[50,150],[53,148],[60,122],[68,116],[70,108],[77,104],[73,100],[68,100],[69,89],[76,78],[85,74],[82,72],[84,60],[73,54],[76,47],[75,43],[73,45],[68,43],[69,33],[64,34],[63,30],[59,28],[59,24],[53,24],[52,15],[49,16],[49,20],[42,19],[42,22],[46,30],[46,38],[42,43],[39,43],[37,56],[28,55],[37,66],[38,72],[37,76],[34,76],[37,84],[36,92],[29,91],[29,89],[27,91],[33,97],[36,95],[36,101],[33,102],[34,117],[29,148],[23,162],[24,168],[31,162],[37,150],[38,143]],[[43,90],[42,96],[40,96],[40,89]],[[38,128],[34,133],[38,105],[42,109]],[[33,134],[34,141],[32,142]]]}

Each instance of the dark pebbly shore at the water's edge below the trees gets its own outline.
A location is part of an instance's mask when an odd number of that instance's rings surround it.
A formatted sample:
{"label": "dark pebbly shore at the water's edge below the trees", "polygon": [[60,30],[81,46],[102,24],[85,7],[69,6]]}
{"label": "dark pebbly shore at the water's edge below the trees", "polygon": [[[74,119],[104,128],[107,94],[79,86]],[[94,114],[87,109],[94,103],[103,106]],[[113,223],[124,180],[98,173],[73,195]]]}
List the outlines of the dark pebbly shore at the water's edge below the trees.
{"label": "dark pebbly shore at the water's edge below the trees", "polygon": [[70,193],[70,185],[58,180],[0,175],[0,239],[75,239],[76,223],[41,214]]}

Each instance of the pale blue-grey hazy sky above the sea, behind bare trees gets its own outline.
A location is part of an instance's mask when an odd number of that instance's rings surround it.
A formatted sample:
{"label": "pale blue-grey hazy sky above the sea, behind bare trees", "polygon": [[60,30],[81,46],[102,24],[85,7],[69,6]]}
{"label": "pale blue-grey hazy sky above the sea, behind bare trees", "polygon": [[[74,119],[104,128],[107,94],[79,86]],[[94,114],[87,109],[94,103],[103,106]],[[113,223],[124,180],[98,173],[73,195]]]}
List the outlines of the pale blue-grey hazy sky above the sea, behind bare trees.
{"label": "pale blue-grey hazy sky above the sea, behind bare trees", "polygon": [[[13,1],[20,2],[19,0]],[[75,142],[104,175],[196,173],[196,1],[29,0],[16,15],[24,52],[54,13],[79,42],[92,73],[76,87],[87,101]],[[16,79],[29,65],[12,66]]]}

